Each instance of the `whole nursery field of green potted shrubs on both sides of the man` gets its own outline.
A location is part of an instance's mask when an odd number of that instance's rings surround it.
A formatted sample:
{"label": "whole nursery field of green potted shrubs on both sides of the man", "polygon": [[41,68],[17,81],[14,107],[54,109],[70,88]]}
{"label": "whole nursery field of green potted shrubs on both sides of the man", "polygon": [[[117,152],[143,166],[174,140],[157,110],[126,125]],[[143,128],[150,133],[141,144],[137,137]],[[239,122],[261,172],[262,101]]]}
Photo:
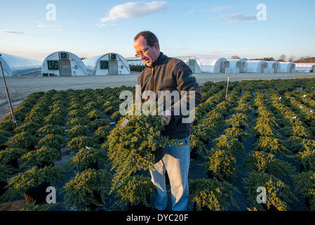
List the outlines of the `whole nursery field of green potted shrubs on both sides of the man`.
{"label": "whole nursery field of green potted shrubs on both sides of the man", "polygon": [[[315,210],[315,79],[200,86],[203,103],[190,136],[189,210]],[[135,120],[135,129],[128,127],[133,136],[121,133],[119,94],[126,90],[135,93],[123,85],[33,91],[15,108],[16,128],[4,117],[2,210],[148,210],[152,158],[140,150],[170,140],[148,132],[159,129],[152,117]],[[48,186],[52,204],[46,204]],[[34,193],[41,192],[35,203],[42,204],[35,205]]]}

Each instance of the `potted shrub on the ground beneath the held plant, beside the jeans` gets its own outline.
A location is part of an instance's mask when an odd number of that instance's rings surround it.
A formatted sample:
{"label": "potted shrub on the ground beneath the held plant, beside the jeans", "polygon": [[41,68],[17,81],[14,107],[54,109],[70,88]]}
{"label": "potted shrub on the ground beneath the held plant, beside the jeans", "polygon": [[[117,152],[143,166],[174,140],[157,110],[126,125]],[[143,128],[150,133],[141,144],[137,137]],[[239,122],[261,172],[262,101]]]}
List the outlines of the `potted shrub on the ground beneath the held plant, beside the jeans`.
{"label": "potted shrub on the ground beneath the held plant, beside the jeans", "polygon": [[116,203],[121,206],[126,205],[128,211],[151,210],[149,197],[154,194],[155,189],[149,177],[138,174],[129,176],[116,190],[116,196],[119,198]]}

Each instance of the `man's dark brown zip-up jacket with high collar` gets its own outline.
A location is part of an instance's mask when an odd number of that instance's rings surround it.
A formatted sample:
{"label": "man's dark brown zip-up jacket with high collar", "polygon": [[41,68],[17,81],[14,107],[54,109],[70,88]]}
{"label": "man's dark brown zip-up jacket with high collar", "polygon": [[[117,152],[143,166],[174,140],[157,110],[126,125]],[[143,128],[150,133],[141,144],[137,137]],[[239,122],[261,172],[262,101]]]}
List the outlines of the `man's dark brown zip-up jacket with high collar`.
{"label": "man's dark brown zip-up jacket with high collar", "polygon": [[[138,85],[141,87],[141,95],[144,91],[153,91],[157,99],[161,96],[161,93],[167,94],[170,91],[169,93],[173,93],[174,96],[179,96],[180,102],[177,101],[179,99],[176,97],[171,98],[172,120],[161,131],[161,135],[169,136],[170,139],[185,139],[190,135],[191,123],[187,122],[189,115],[182,111],[180,104],[185,105],[187,110],[191,110],[201,103],[202,96],[196,78],[192,75],[192,70],[186,63],[177,58],[169,58],[161,53],[152,67],[147,67],[140,73]],[[180,96],[182,91],[187,91],[187,101]],[[189,98],[189,91],[194,93],[194,101]],[[145,101],[147,99],[142,99],[142,103]],[[164,98],[164,101],[166,101],[166,98]],[[194,105],[191,103],[194,103]]]}

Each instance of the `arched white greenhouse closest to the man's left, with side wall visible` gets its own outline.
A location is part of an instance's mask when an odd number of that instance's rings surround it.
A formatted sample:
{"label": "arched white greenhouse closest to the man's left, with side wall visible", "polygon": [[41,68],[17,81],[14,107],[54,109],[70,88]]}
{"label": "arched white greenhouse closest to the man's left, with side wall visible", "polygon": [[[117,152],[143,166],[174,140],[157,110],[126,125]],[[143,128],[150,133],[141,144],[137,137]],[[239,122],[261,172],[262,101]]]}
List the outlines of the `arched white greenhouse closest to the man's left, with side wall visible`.
{"label": "arched white greenhouse closest to the man's left, with side wall visible", "polygon": [[123,56],[117,53],[106,53],[83,60],[88,75],[128,75],[130,68]]}

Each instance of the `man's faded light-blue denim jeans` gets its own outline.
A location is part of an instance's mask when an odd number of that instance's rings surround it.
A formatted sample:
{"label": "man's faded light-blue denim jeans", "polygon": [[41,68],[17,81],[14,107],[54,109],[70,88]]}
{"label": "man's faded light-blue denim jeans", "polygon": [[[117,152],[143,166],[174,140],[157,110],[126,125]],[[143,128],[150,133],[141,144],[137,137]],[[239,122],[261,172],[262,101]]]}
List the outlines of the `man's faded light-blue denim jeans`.
{"label": "man's faded light-blue denim jeans", "polygon": [[[190,145],[189,137],[180,139]],[[166,210],[168,196],[166,192],[165,172],[170,179],[170,192],[172,193],[172,210],[187,211],[188,204],[188,172],[190,162],[190,146],[166,146],[166,154],[150,170],[152,183],[156,186],[154,207]]]}

